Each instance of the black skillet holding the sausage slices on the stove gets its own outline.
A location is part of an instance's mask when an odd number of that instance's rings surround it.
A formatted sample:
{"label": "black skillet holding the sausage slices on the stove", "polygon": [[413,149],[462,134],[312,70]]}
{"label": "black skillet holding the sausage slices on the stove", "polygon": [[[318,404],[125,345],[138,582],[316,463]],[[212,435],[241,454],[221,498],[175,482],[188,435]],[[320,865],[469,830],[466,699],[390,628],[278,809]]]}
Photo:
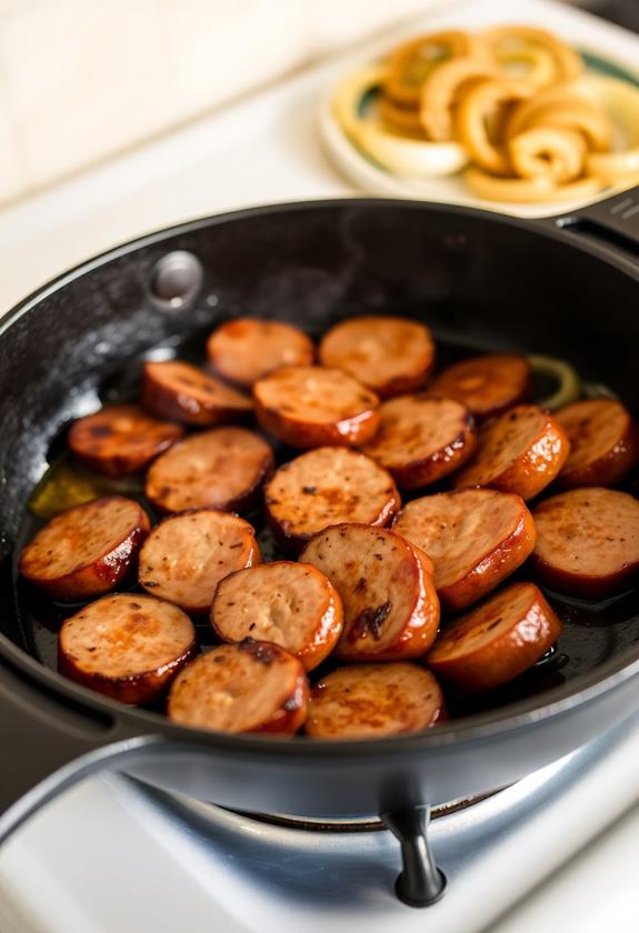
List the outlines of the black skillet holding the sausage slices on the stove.
{"label": "black skillet holding the sausage slices on the stove", "polygon": [[639,593],[598,606],[556,599],[566,633],[555,660],[472,715],[378,742],[191,731],[56,672],[14,555],[64,425],[151,348],[187,352],[230,315],[317,335],[378,311],[428,322],[445,354],[566,358],[639,411],[639,189],[541,221],[395,200],[240,211],[112,250],[2,320],[0,837],[81,775],[120,769],[250,812],[382,814],[402,840],[401,893],[427,903],[441,889],[428,804],[501,787],[639,708]]}

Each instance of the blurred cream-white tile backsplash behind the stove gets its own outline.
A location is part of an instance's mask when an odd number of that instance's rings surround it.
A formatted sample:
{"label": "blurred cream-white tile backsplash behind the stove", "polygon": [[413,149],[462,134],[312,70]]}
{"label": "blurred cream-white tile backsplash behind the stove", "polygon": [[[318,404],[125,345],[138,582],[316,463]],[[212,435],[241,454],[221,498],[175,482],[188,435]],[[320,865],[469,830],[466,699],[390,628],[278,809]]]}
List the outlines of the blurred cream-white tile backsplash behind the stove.
{"label": "blurred cream-white tile backsplash behind the stove", "polygon": [[0,205],[441,2],[0,0]]}

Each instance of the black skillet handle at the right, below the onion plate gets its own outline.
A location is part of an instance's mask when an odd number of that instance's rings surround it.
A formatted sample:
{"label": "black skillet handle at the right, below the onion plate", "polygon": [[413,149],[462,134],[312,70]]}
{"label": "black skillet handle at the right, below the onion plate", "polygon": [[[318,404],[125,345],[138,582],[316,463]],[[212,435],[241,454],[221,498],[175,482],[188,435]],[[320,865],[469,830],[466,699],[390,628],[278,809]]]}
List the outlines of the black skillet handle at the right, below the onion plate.
{"label": "black skillet handle at the right, below the onion plate", "polygon": [[615,257],[639,262],[639,185],[569,214],[546,218],[567,233],[596,242]]}

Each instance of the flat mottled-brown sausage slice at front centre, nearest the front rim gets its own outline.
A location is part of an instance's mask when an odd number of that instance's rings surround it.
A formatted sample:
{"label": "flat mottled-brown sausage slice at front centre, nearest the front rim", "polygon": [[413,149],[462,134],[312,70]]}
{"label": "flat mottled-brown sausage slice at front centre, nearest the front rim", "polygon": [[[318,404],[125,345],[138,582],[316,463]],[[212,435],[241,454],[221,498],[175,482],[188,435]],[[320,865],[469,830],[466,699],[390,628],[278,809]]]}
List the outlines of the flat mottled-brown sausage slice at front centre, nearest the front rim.
{"label": "flat mottled-brown sausage slice at front centre, nearest the front rim", "polygon": [[322,678],[304,731],[312,739],[381,739],[421,732],[446,719],[443,694],[417,664],[358,664]]}

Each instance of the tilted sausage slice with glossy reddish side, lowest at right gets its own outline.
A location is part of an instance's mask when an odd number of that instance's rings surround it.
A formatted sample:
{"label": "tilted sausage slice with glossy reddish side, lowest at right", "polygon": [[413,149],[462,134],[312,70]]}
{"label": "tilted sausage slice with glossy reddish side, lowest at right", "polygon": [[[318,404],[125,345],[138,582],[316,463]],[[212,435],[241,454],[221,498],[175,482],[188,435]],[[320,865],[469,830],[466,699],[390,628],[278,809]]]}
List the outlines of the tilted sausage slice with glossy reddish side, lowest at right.
{"label": "tilted sausage slice with glossy reddish side, lowest at right", "polygon": [[543,658],[561,622],[533,583],[512,583],[441,634],[427,656],[437,676],[467,693],[492,690]]}

